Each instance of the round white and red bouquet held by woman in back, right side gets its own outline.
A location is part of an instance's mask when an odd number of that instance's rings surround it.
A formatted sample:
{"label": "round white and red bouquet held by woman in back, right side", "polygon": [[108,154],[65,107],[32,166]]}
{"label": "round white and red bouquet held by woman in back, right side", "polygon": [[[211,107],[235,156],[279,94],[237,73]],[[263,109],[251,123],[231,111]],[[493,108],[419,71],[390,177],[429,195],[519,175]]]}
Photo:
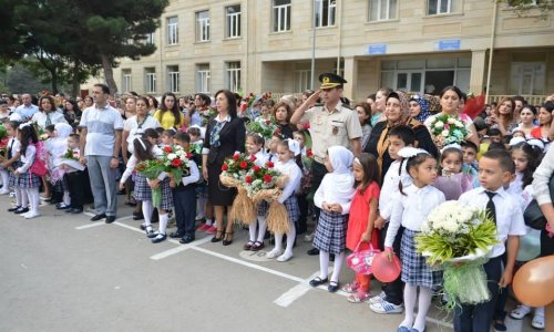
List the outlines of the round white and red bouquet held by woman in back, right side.
{"label": "round white and red bouquet held by woman in back, right side", "polygon": [[461,144],[471,136],[470,127],[459,117],[440,114],[429,123],[433,142],[439,147],[449,144]]}

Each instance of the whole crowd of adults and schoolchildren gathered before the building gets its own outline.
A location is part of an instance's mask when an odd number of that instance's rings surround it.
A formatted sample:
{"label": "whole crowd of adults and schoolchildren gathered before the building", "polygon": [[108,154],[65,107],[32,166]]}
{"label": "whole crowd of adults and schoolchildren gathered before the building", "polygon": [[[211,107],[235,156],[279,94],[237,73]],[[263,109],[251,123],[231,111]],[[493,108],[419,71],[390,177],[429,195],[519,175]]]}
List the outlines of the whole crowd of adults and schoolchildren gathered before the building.
{"label": "whole crowd of adults and schoolchildren gathered before the building", "polygon": [[[521,264],[520,239],[537,237],[540,257],[554,253],[554,149],[548,148],[554,95],[541,105],[506,96],[470,115],[464,108],[469,96],[455,86],[437,96],[383,87],[351,103],[342,96],[346,80],[326,73],[319,81],[318,91],[279,101],[268,93],[243,97],[222,90],[213,97],[165,93],[158,103],[136,93],[113,98],[104,84],[78,100],[6,96],[0,101],[7,136],[0,194],[14,193],[9,211],[27,219],[40,217],[42,199],[75,215],[93,203],[91,221],[106,224],[116,219],[117,196],[124,194],[153,243],[167,236],[189,243],[197,232],[207,232],[212,242],[228,246],[237,190],[224,186],[219,175],[235,153],[254,156],[259,166],[271,163],[288,176],[278,201],[288,211],[289,231],[275,235],[267,257],[288,261],[302,235],[314,245],[308,255],[319,256],[320,272],[311,286],[342,289],[350,302],[369,302],[380,314],[404,312],[401,332],[425,330],[428,309],[442,284],[442,273],[417,252],[414,237],[434,207],[459,200],[493,211],[499,243],[484,263],[491,300],[456,307],[454,330],[489,331],[493,325],[506,331],[505,289]],[[259,118],[276,123],[273,137],[246,129]],[[452,134],[441,118],[453,118],[451,125],[465,128],[464,134]],[[150,179],[136,172],[138,163],[158,158],[167,146],[191,153],[189,172],[182,179],[170,174]],[[162,197],[155,208],[152,190],[157,188]],[[543,229],[525,225],[523,211],[533,199],[547,220]],[[260,204],[244,250],[265,248],[267,214],[267,204]],[[176,230],[166,235],[171,218]],[[401,276],[376,297],[367,274],[339,283],[346,251],[369,248],[401,261]],[[334,271],[328,276],[330,261]],[[531,312],[533,328],[544,329],[544,308],[521,304],[510,315],[523,319]]]}

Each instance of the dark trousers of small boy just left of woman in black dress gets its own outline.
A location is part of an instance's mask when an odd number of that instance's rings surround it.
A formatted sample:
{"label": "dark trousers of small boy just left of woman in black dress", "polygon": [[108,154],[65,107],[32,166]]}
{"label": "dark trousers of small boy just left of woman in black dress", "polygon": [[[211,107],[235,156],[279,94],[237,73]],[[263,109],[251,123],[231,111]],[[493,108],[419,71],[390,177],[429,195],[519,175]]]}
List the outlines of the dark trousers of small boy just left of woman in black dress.
{"label": "dark trousers of small boy just left of woman in black dress", "polygon": [[194,237],[196,221],[196,190],[194,186],[188,185],[173,190],[173,201],[177,231]]}

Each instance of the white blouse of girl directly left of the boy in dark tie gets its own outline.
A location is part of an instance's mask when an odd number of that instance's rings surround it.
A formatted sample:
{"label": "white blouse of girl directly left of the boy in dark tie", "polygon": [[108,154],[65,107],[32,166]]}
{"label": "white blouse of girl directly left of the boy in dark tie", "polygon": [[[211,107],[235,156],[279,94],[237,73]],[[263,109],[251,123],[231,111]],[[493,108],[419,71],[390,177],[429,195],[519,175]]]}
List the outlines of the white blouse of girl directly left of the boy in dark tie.
{"label": "white blouse of girl directly left of the boy in dark tie", "polygon": [[384,238],[384,247],[392,247],[400,225],[412,231],[420,231],[427,216],[440,204],[444,203],[444,194],[433,186],[419,188],[411,185],[402,189],[392,207],[389,229]]}

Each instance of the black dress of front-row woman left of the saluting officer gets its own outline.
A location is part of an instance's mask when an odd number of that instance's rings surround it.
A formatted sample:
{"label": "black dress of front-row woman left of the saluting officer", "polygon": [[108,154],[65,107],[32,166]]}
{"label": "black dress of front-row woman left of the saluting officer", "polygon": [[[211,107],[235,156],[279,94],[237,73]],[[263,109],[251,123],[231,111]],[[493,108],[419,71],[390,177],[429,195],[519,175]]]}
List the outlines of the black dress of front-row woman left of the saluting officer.
{"label": "black dress of front-row woman left of the saluting officer", "polygon": [[237,151],[244,153],[246,128],[243,118],[233,117],[219,132],[220,145],[213,147],[209,144],[209,135],[216,124],[215,118],[209,121],[206,128],[206,139],[204,139],[204,147],[209,148],[207,159],[208,201],[214,206],[230,206],[237,190],[222,185],[219,174],[222,174],[222,166],[226,158],[232,157]]}

